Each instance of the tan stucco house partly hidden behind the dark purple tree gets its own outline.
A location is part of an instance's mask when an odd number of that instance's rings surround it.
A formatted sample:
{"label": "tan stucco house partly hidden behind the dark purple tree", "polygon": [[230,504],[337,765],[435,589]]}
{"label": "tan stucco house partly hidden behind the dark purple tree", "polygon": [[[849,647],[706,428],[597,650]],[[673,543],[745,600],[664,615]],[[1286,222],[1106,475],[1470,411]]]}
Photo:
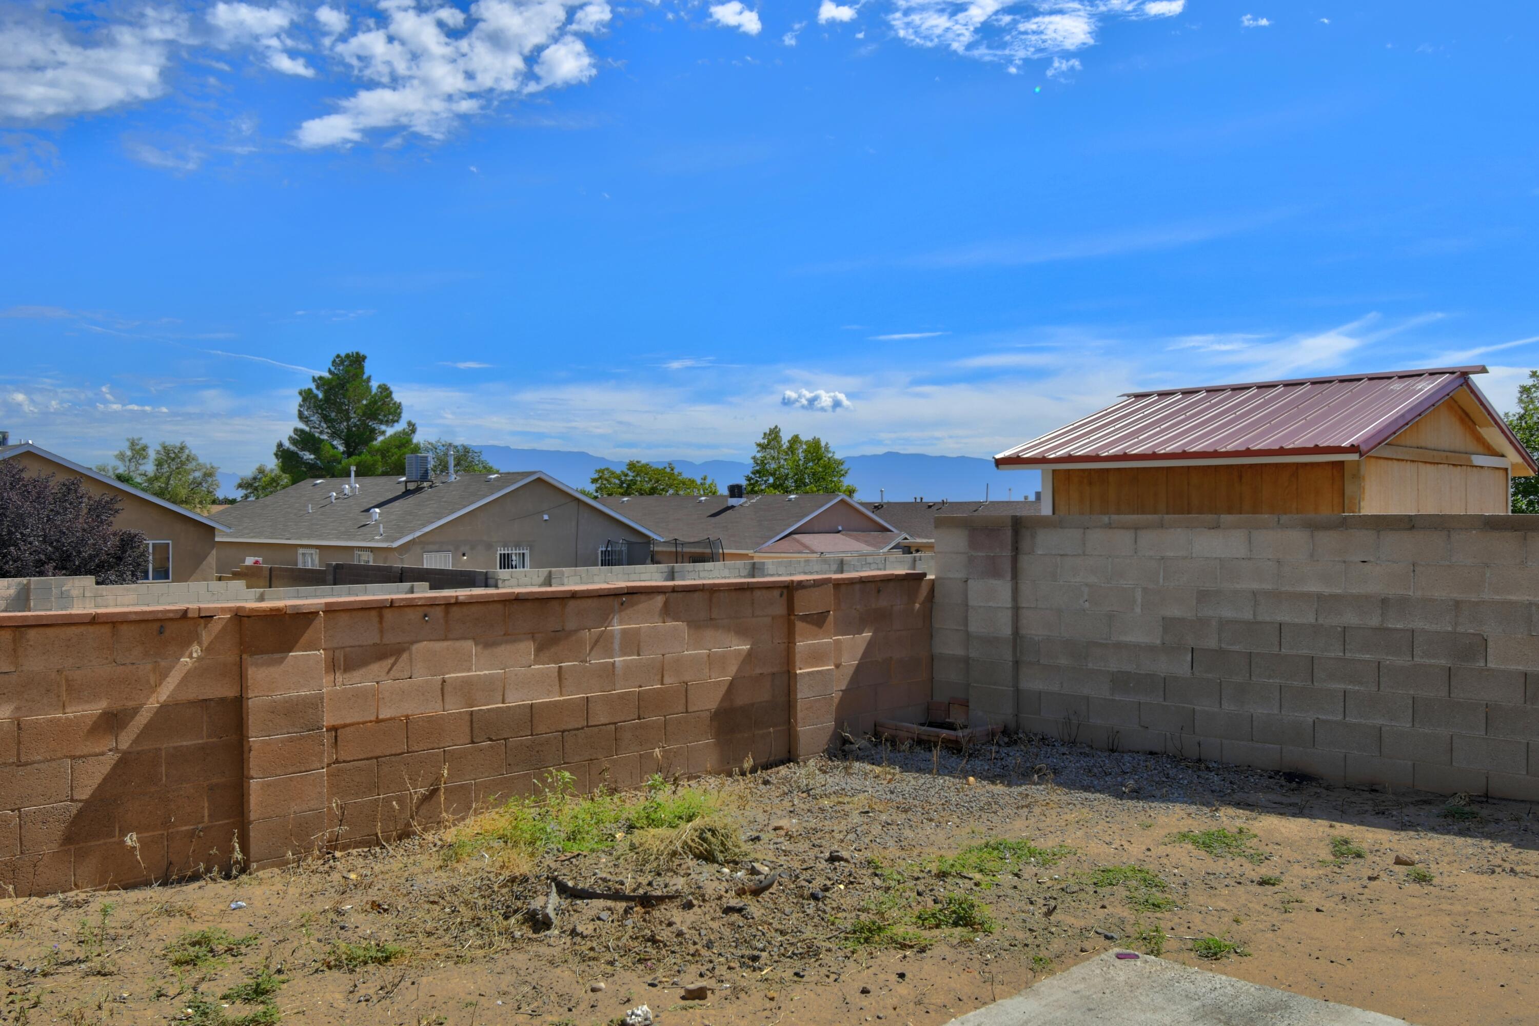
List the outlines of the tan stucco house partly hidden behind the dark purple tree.
{"label": "tan stucco house partly hidden behind the dark purple tree", "polygon": [[0,460],[15,460],[32,474],[78,477],[88,492],[117,495],[122,505],[114,526],[140,531],[148,543],[143,580],[214,580],[214,538],[228,531],[217,520],[131,488],[31,441],[0,445]]}

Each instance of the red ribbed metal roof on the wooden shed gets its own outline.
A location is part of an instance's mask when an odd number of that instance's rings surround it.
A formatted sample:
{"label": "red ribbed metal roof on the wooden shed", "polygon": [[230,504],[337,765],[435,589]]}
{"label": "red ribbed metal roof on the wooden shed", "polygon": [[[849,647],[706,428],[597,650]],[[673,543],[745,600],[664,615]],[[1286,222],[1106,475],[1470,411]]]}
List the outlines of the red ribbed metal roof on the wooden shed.
{"label": "red ribbed metal roof on the wooden shed", "polygon": [[1470,380],[1484,372],[1433,368],[1127,392],[1107,409],[1000,452],[994,465],[1362,455],[1467,388],[1513,452],[1539,469]]}

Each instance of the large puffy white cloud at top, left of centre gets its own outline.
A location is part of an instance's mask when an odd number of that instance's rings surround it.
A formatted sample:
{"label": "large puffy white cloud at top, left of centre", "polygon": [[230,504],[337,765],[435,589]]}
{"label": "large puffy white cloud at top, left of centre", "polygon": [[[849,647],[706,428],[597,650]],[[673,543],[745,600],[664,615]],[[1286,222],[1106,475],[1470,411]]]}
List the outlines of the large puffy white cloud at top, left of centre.
{"label": "large puffy white cloud at top, left of centre", "polygon": [[379,129],[443,138],[502,98],[588,82],[597,65],[577,34],[611,18],[603,0],[476,0],[469,14],[403,2],[382,9],[383,23],[366,22],[329,46],[369,88],[300,125],[299,146],[348,146]]}

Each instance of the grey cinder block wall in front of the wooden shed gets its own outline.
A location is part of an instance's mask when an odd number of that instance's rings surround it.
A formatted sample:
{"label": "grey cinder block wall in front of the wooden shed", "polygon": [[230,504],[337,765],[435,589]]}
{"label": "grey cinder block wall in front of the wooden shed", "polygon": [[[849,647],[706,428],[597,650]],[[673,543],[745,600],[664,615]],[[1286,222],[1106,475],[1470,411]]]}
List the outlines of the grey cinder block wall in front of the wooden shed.
{"label": "grey cinder block wall in front of the wooden shed", "polygon": [[934,689],[1102,748],[1539,798],[1539,517],[943,517]]}

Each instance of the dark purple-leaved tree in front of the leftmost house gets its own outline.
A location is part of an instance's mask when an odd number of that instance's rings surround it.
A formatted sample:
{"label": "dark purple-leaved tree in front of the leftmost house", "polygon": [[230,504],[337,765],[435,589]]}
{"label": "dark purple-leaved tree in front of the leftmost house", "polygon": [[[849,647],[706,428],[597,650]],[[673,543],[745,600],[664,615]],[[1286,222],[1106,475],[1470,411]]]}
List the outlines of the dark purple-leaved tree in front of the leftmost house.
{"label": "dark purple-leaved tree in front of the leftmost house", "polygon": [[0,461],[0,577],[94,577],[132,585],[149,565],[145,535],[112,526],[122,498],[92,495],[78,477],[28,474]]}

